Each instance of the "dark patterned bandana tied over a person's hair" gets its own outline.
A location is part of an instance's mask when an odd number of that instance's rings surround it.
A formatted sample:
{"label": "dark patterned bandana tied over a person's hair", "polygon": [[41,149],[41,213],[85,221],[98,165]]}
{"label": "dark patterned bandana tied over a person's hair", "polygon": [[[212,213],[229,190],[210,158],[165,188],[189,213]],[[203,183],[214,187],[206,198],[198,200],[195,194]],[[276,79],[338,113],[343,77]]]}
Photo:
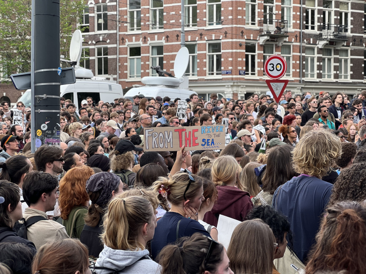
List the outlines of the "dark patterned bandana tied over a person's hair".
{"label": "dark patterned bandana tied over a person's hair", "polygon": [[98,192],[102,190],[98,200],[93,203],[98,206],[105,206],[112,198],[112,191],[120,184],[120,177],[110,172],[100,172],[87,179],[87,192]]}

